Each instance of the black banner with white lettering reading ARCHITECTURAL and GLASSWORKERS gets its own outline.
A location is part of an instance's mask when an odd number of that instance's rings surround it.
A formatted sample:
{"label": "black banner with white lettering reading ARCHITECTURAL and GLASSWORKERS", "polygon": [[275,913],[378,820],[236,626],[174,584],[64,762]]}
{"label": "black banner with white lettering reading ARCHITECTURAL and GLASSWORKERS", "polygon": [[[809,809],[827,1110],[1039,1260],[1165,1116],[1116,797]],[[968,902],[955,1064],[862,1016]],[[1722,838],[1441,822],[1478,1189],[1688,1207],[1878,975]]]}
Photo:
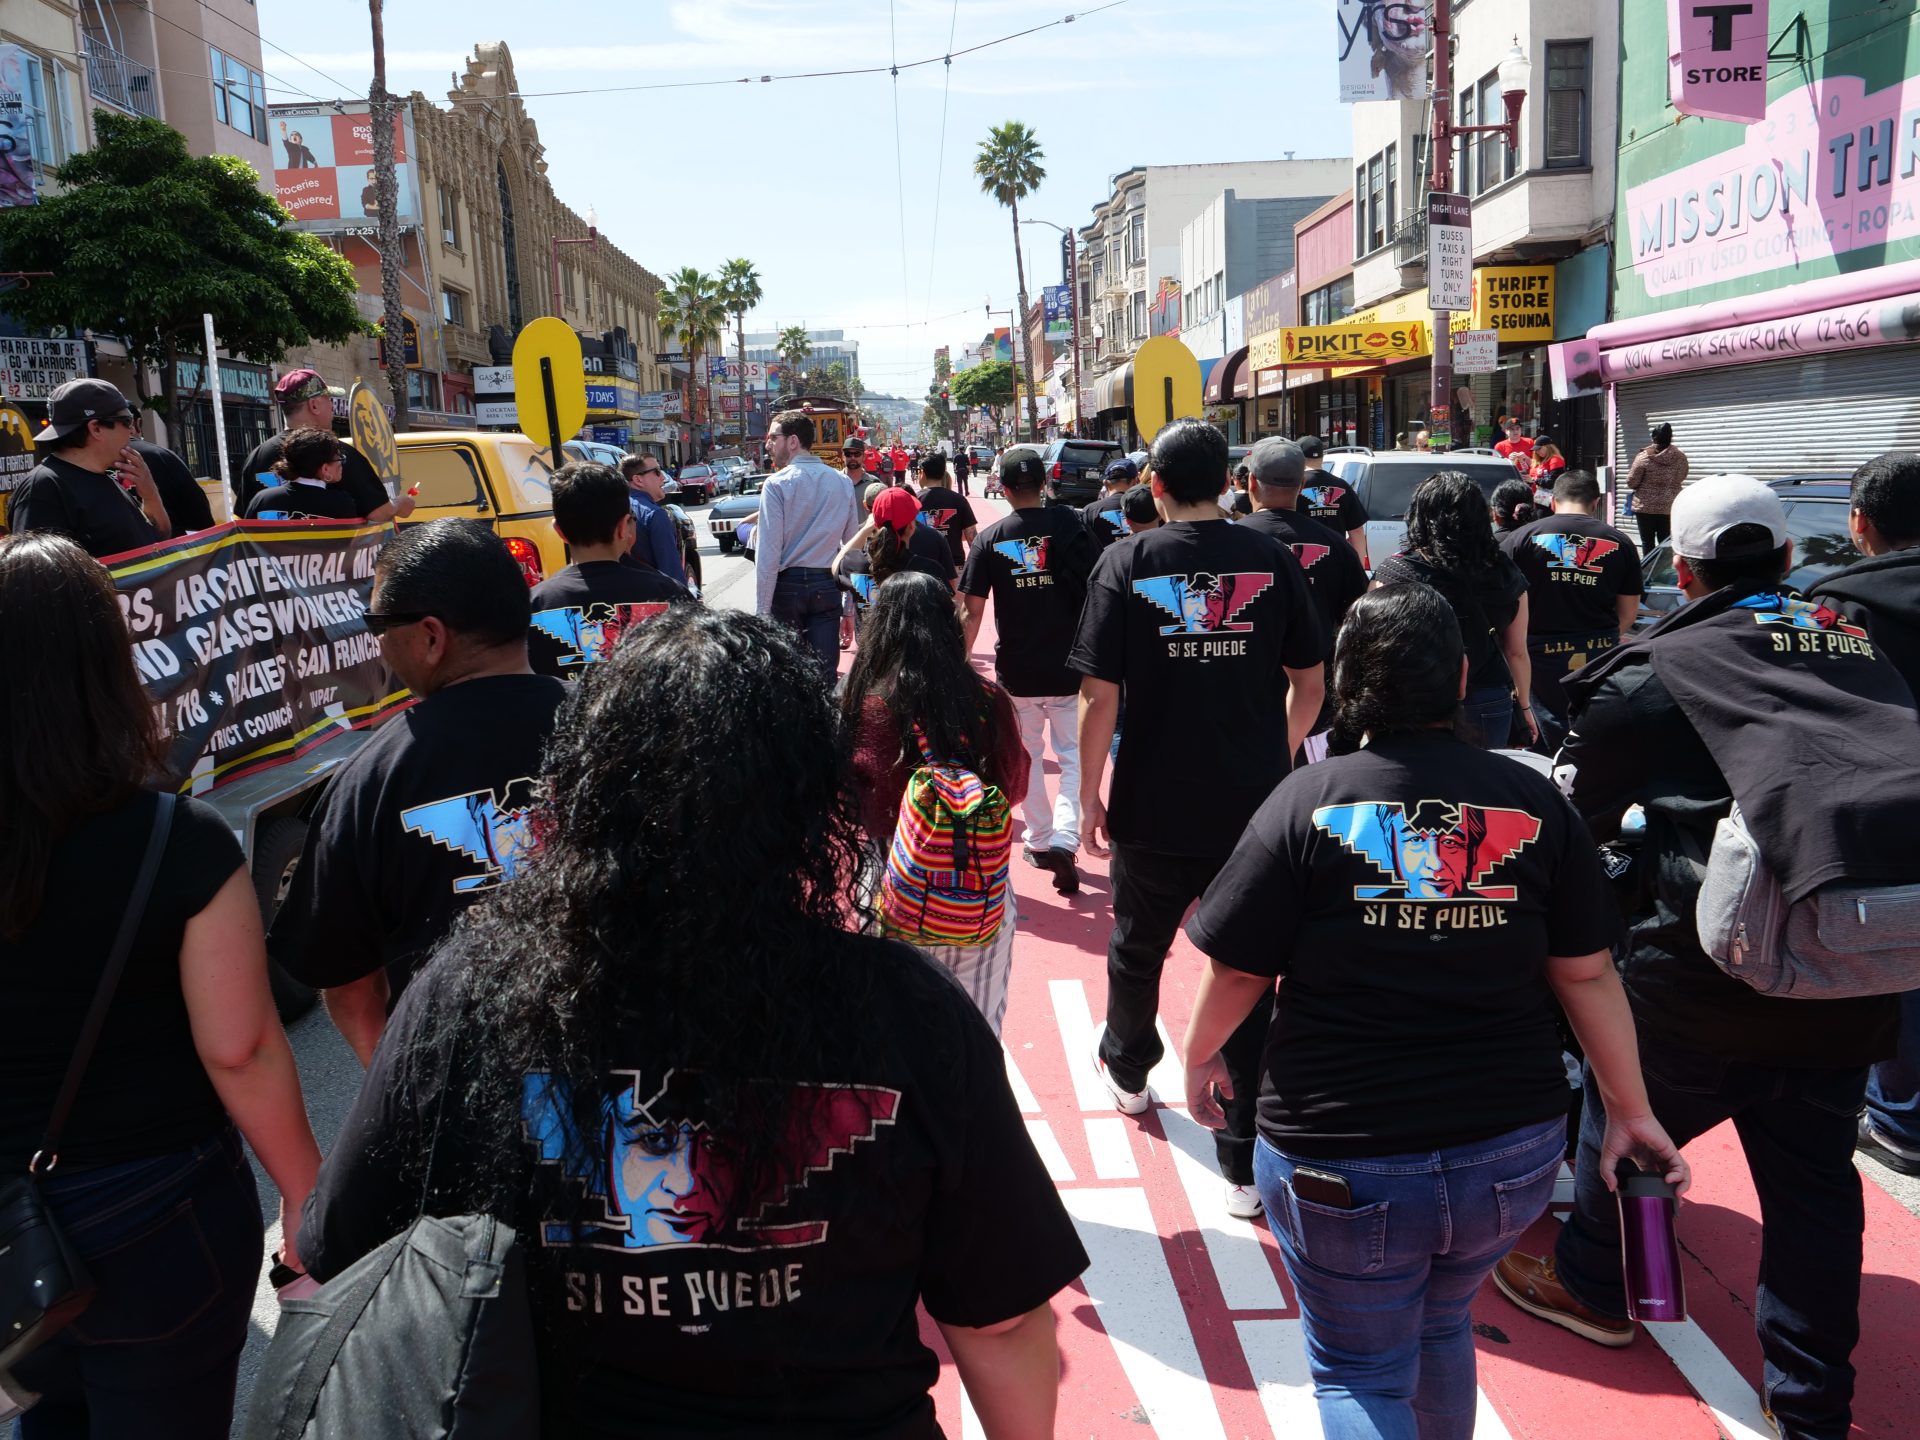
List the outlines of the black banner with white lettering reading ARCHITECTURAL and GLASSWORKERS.
{"label": "black banner with white lettering reading ARCHITECTURAL and GLASSWORKERS", "polygon": [[169,783],[204,795],[411,705],[363,618],[390,534],[236,520],[108,563]]}

